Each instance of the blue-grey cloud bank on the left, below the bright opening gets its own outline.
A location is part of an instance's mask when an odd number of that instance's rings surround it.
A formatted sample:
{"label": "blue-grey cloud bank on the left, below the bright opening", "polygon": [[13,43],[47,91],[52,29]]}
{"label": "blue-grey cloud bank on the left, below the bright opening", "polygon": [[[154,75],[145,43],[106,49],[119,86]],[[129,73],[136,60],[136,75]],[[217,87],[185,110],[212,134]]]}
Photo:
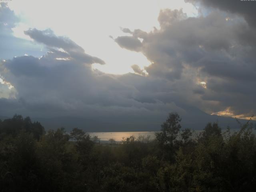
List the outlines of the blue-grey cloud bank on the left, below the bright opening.
{"label": "blue-grey cloud bank on the left, below the bright opening", "polygon": [[[83,50],[71,40],[35,29],[26,34],[45,42],[49,52],[40,58],[17,56],[1,62],[0,74],[14,86],[15,95],[0,99],[4,106],[0,114],[100,116],[134,123],[145,123],[145,118],[150,117],[150,122],[155,124],[160,123],[170,109],[184,113],[172,101],[155,100],[151,86],[160,88],[162,82],[136,74],[118,76],[92,70],[91,65],[84,65],[88,59],[80,57]],[[89,64],[93,61],[91,59]],[[136,79],[138,81],[134,81]]]}

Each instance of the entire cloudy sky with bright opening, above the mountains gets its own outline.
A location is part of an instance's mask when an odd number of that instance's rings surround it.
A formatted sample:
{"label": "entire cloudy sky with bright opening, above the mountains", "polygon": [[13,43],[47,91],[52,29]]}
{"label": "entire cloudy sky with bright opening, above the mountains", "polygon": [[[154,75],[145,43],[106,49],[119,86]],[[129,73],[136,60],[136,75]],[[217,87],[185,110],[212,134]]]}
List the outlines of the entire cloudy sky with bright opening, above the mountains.
{"label": "entire cloudy sky with bright opening, above the mountains", "polygon": [[256,1],[0,5],[0,116],[256,114]]}

